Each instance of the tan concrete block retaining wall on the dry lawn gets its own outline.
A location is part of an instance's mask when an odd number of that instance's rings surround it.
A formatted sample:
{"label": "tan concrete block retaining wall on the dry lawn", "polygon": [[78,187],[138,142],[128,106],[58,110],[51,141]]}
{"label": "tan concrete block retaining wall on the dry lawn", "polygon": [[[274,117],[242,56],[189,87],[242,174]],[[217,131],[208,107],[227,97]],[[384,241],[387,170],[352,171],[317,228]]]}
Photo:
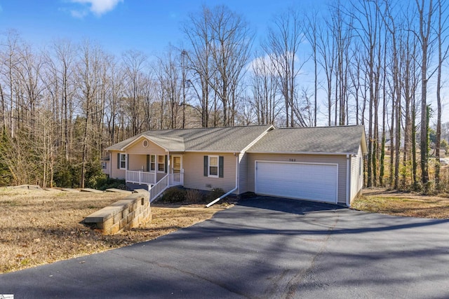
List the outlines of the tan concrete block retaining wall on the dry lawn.
{"label": "tan concrete block retaining wall on the dry lawn", "polygon": [[84,223],[95,225],[102,230],[103,235],[113,235],[124,229],[137,228],[151,220],[149,193],[138,190],[138,193],[128,195],[87,216]]}

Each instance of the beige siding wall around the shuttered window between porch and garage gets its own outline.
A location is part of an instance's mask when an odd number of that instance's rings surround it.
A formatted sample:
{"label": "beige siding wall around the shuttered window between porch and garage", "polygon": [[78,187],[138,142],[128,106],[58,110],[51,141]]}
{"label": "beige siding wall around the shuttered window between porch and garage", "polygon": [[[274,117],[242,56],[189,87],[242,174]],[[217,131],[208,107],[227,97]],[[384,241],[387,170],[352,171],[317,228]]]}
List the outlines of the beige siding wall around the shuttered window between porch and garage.
{"label": "beige siding wall around the shuttered window between porch and garage", "polygon": [[[204,156],[223,156],[222,178],[204,176]],[[236,157],[229,153],[185,153],[182,157],[184,168],[184,186],[190,189],[210,190],[222,188],[230,191],[236,187]]]}

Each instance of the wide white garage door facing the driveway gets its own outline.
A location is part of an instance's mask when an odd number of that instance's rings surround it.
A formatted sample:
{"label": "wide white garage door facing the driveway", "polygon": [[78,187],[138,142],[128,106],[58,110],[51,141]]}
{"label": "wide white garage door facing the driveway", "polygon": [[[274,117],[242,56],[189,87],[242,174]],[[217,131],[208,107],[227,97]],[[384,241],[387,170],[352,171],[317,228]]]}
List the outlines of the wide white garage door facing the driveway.
{"label": "wide white garage door facing the driveway", "polygon": [[337,203],[337,165],[255,162],[255,193]]}

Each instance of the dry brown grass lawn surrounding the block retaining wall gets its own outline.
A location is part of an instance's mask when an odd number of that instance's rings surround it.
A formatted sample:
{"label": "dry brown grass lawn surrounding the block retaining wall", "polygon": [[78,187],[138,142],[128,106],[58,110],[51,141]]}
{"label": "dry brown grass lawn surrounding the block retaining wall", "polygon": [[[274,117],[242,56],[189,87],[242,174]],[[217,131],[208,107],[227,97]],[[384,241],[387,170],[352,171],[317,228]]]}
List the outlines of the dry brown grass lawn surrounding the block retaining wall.
{"label": "dry brown grass lawn surrounding the block retaining wall", "polygon": [[152,207],[150,223],[110,236],[80,224],[125,196],[0,188],[0,273],[155,239],[211,218],[218,210]]}

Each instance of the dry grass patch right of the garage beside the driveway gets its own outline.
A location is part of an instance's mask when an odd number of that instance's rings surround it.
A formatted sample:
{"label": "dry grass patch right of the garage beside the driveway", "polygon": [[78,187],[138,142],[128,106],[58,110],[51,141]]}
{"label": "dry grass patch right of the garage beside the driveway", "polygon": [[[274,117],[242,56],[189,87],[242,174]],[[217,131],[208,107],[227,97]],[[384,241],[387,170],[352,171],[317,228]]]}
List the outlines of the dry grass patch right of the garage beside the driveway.
{"label": "dry grass patch right of the garage beside the driveway", "polygon": [[361,211],[420,218],[449,218],[449,198],[368,188],[351,207]]}

